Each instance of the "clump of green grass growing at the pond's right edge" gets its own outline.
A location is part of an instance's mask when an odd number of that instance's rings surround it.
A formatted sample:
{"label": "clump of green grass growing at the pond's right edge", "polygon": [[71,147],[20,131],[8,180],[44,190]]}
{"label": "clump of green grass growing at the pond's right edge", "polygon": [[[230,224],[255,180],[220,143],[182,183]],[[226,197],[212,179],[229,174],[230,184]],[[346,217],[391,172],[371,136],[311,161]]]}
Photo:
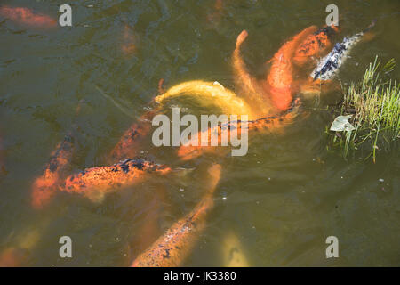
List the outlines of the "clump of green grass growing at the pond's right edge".
{"label": "clump of green grass growing at the pond's right edge", "polygon": [[342,85],[344,97],[338,112],[340,116],[351,115],[349,123],[354,128],[329,134],[333,144],[342,147],[345,158],[349,151],[367,148],[365,159],[372,156],[375,162],[377,150],[400,138],[400,85],[389,78],[395,66],[396,61],[391,59],[380,68],[376,56],[361,82],[351,83],[348,89]]}

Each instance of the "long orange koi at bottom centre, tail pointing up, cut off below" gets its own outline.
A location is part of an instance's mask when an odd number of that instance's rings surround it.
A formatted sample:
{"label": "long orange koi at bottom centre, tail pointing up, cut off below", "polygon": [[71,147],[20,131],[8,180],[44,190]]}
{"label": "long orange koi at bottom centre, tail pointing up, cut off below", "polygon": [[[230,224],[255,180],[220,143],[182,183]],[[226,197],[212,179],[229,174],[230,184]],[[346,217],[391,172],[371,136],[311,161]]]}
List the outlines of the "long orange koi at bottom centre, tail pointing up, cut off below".
{"label": "long orange koi at bottom centre, tail pointing up, cut off below", "polygon": [[172,224],[164,235],[138,256],[132,267],[180,266],[196,245],[200,233],[205,229],[205,219],[213,208],[213,193],[220,180],[220,165],[209,169],[208,191],[204,198],[187,216]]}

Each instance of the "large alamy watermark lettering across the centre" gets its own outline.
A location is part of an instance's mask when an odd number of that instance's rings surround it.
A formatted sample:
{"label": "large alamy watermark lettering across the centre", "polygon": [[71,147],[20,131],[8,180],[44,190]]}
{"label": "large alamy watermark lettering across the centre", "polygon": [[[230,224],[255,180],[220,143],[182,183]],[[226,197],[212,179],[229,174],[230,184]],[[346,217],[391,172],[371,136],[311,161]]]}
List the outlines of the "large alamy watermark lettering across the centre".
{"label": "large alamy watermark lettering across the centre", "polygon": [[[196,116],[187,114],[180,118],[180,108],[172,108],[171,120],[164,114],[153,118],[152,125],[158,127],[153,132],[152,142],[157,147],[230,145],[236,147],[231,151],[232,156],[244,156],[248,151],[247,120],[247,115],[201,115],[199,129]],[[187,127],[180,132],[180,126]]]}

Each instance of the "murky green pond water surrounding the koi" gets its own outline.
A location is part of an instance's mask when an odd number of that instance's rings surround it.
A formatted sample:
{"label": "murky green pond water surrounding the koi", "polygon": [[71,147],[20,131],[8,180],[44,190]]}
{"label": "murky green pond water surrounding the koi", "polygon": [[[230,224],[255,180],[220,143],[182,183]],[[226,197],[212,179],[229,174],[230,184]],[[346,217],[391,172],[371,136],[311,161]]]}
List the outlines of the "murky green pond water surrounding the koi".
{"label": "murky green pond water surrounding the koi", "polygon": [[[3,3],[52,17],[63,4]],[[324,128],[332,114],[320,109],[338,102],[339,92],[322,94],[316,109],[307,102],[309,116],[296,120],[284,133],[253,137],[244,157],[208,155],[182,163],[176,149],[153,147],[148,139],[143,155],[196,171],[180,179],[141,183],[109,195],[100,205],[60,193],[44,211],[32,209],[31,183],[42,174],[50,153],[74,121],[77,150],[71,173],[104,165],[132,124],[134,119],[102,96],[96,85],[134,118],[158,93],[160,78],[166,86],[203,79],[234,89],[230,59],[241,30],[250,35],[244,59],[253,74],[261,75],[262,62],[289,37],[310,25],[324,25],[324,10],[331,3],[227,0],[220,12],[214,0],[69,4],[72,28],[46,31],[0,21],[0,130],[6,169],[0,178],[0,249],[31,240],[28,265],[129,265],[144,249],[138,240],[143,240],[140,229],[148,216],[160,217],[161,234],[188,213],[204,191],[204,168],[215,161],[222,165],[216,205],[184,265],[223,265],[222,240],[231,231],[253,266],[400,265],[398,147],[378,151],[376,164],[360,158],[365,153],[346,161],[340,151],[327,151]],[[397,1],[335,4],[342,36],[378,20],[376,37],[357,45],[340,70],[342,82],[361,78],[376,54],[382,61],[399,60]],[[132,27],[135,45],[128,55],[121,49],[125,24]],[[398,70],[394,78],[399,78]],[[85,104],[75,120],[82,99]],[[160,189],[166,193],[163,198]],[[155,209],[160,201],[163,207]],[[64,235],[73,240],[71,259],[59,256],[58,241]],[[340,257],[326,259],[325,239],[332,235],[339,239]]]}

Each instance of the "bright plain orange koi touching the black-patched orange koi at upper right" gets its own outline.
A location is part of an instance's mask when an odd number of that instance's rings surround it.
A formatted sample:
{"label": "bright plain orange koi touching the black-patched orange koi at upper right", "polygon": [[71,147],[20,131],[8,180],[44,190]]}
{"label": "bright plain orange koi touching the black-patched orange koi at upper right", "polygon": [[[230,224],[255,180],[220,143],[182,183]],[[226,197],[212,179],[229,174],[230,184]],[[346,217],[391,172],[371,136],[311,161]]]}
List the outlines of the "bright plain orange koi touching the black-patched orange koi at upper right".
{"label": "bright plain orange koi touching the black-patched orange koi at upper right", "polygon": [[292,56],[300,42],[316,31],[316,26],[304,29],[286,42],[270,60],[271,69],[267,77],[269,96],[278,110],[287,110],[292,102]]}

